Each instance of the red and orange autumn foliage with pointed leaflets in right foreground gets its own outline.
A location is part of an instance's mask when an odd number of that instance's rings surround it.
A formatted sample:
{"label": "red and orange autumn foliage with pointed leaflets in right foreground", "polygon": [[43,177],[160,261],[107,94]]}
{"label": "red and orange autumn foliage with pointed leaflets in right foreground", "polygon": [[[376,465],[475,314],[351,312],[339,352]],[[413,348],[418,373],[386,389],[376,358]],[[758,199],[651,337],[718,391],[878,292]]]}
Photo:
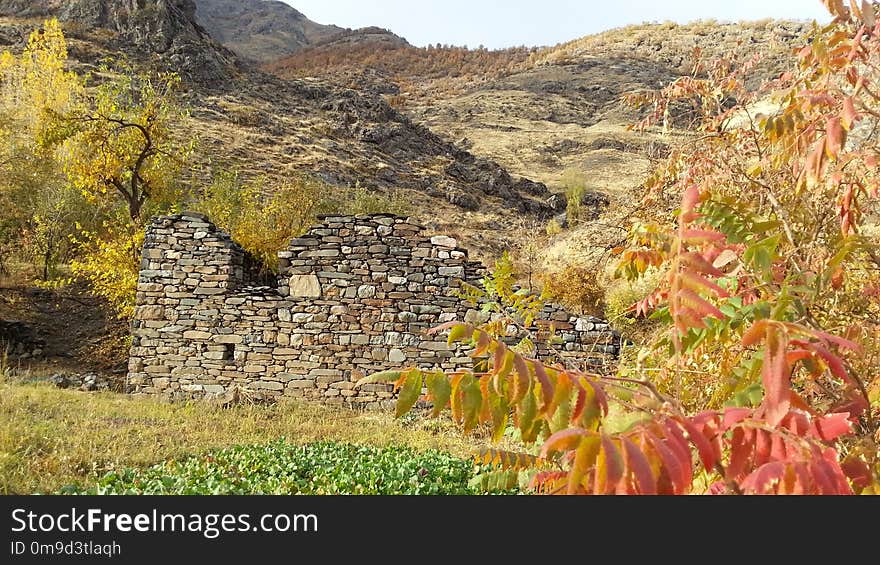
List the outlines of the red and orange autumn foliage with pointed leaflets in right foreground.
{"label": "red and orange autumn foliage with pointed leaflets in right foreground", "polygon": [[660,281],[631,308],[659,324],[632,364],[535,359],[498,332],[528,329],[511,316],[433,330],[470,347],[473,371],[362,382],[395,383],[398,413],[426,387],[465,430],[497,438],[512,421],[540,451],[483,460],[541,492],[880,492],[880,26],[876,4],[826,4],[834,21],[759,91],[745,86],[756,57],[630,98],[651,110],[638,128],[672,126],[684,107],[695,119],[646,183],[653,217],[616,250],[619,276]]}

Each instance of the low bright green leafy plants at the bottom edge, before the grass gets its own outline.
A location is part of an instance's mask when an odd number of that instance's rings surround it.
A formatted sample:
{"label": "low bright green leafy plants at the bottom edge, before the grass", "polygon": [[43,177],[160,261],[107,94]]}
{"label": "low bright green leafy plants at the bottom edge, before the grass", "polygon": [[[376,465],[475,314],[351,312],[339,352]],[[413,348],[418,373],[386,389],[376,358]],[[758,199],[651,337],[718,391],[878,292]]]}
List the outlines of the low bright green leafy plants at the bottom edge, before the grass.
{"label": "low bright green leafy plants at the bottom edge, before the grass", "polygon": [[478,468],[438,450],[285,440],[111,471],[62,494],[483,494]]}

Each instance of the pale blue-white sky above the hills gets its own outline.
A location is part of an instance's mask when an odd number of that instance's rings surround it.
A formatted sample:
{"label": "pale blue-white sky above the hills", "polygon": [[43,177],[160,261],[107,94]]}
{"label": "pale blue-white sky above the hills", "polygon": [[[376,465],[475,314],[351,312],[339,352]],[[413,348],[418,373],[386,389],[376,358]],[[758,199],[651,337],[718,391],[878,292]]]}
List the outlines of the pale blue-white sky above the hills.
{"label": "pale blue-white sky above the hills", "polygon": [[284,0],[322,24],[379,26],[410,43],[555,45],[642,22],[827,21],[820,0]]}

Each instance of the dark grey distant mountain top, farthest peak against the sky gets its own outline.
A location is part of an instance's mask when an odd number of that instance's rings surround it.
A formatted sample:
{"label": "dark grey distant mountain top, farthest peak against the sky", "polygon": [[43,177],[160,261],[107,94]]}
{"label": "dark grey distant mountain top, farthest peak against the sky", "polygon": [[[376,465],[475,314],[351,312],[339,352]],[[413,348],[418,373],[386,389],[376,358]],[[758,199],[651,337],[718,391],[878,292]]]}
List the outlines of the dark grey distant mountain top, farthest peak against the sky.
{"label": "dark grey distant mountain top, farthest peak against the sky", "polygon": [[315,23],[289,4],[276,0],[195,1],[196,20],[214,39],[258,63],[328,42],[406,44],[403,38],[380,28],[351,30]]}

